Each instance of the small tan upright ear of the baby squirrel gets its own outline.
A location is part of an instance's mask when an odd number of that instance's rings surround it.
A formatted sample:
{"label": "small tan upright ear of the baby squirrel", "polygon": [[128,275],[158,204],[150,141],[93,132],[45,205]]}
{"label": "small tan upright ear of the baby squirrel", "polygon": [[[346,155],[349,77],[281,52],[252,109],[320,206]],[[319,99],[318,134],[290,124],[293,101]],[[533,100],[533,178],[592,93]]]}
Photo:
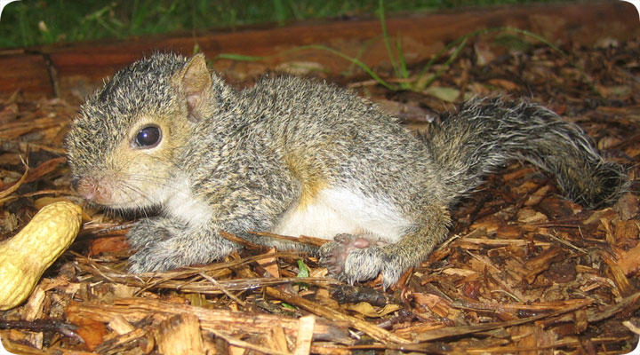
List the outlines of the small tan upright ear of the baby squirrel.
{"label": "small tan upright ear of the baby squirrel", "polygon": [[203,53],[198,53],[188,59],[185,67],[173,78],[174,84],[184,92],[187,99],[188,119],[193,122],[204,118],[206,101],[212,87],[212,78]]}

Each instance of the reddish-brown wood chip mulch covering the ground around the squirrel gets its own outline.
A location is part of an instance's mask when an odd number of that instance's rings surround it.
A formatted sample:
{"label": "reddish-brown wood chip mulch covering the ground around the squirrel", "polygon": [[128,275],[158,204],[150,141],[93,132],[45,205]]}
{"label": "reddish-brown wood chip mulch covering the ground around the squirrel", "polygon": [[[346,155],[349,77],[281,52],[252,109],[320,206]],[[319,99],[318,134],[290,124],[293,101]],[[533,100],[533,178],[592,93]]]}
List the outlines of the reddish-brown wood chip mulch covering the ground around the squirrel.
{"label": "reddish-brown wood chip mulch covering the ground around the squirrel", "polygon": [[[631,192],[612,208],[583,209],[559,196],[553,177],[514,162],[452,211],[452,237],[428,261],[383,290],[380,280],[332,280],[313,257],[253,246],[218,263],[127,274],[132,251],[124,235],[132,221],[87,207],[76,242],[28,301],[0,312],[4,346],[68,354],[633,350],[640,334],[640,41],[564,50],[566,58],[540,44],[499,50],[471,43],[419,93],[385,91],[363,75],[340,80],[417,129],[452,107],[444,95],[547,105],[628,168]],[[27,101],[20,92],[0,101],[0,240],[55,199],[84,204],[69,188],[61,147],[76,111],[77,102]]]}

